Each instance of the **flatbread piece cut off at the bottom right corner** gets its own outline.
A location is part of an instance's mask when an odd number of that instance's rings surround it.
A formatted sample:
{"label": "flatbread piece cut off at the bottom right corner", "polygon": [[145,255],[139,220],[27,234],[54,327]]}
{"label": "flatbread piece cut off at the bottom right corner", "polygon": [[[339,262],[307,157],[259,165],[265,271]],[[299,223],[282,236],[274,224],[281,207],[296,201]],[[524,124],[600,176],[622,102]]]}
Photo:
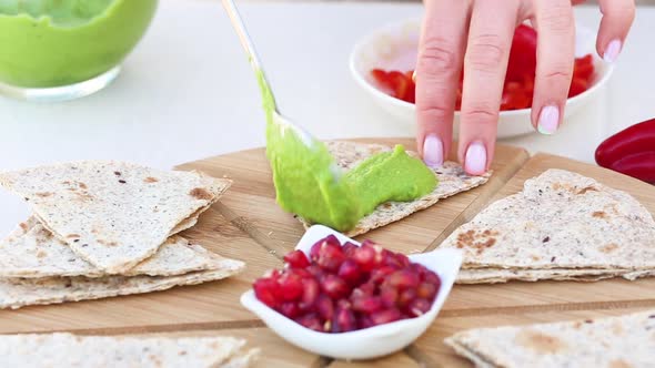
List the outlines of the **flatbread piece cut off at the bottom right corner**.
{"label": "flatbread piece cut off at the bottom right corner", "polygon": [[655,310],[471,329],[446,338],[445,344],[477,367],[653,367]]}

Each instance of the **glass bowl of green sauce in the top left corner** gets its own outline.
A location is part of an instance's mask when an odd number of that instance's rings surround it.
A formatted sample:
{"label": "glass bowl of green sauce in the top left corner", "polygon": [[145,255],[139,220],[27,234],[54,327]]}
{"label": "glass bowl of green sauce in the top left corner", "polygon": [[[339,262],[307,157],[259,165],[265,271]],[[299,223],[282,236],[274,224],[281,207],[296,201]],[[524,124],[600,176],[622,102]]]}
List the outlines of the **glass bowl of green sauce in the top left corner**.
{"label": "glass bowl of green sauce in the top left corner", "polygon": [[64,101],[119,74],[158,0],[0,0],[0,94]]}

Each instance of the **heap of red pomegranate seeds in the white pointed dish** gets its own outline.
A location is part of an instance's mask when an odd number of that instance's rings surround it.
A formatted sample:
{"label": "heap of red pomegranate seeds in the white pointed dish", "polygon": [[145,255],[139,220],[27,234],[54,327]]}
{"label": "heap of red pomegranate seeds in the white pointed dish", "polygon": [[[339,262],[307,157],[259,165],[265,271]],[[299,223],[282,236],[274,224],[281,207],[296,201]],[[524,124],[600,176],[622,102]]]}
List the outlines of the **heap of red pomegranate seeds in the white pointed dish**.
{"label": "heap of red pomegranate seeds in the white pointed dish", "polygon": [[441,279],[400,253],[365,241],[361,247],[331,235],[284,257],[286,267],[254,283],[262,303],[322,333],[346,333],[423,315]]}

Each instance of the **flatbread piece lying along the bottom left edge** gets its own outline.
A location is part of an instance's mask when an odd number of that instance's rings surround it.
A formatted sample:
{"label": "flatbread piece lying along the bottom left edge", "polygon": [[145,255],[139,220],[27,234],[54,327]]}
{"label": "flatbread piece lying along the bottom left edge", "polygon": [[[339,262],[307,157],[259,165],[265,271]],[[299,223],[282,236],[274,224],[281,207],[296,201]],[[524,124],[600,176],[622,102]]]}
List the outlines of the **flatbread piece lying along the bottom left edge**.
{"label": "flatbread piece lying along the bottom left edge", "polygon": [[259,349],[233,337],[0,335],[0,367],[250,367]]}

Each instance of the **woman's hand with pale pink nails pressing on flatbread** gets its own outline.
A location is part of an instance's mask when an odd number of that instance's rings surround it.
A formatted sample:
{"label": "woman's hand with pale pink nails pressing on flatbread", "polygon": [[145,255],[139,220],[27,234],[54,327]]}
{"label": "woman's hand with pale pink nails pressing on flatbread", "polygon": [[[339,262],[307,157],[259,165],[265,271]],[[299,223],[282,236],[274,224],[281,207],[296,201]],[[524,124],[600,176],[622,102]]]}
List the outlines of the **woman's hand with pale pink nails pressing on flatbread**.
{"label": "woman's hand with pale pink nails pressing on flatbread", "polygon": [[[603,20],[596,49],[612,62],[632,25],[635,3],[598,2]],[[532,124],[543,134],[553,134],[562,123],[575,59],[572,1],[425,0],[415,75],[416,140],[427,165],[441,165],[450,152],[463,71],[457,156],[468,174],[488,170],[512,38],[524,20],[531,20],[538,32]]]}

